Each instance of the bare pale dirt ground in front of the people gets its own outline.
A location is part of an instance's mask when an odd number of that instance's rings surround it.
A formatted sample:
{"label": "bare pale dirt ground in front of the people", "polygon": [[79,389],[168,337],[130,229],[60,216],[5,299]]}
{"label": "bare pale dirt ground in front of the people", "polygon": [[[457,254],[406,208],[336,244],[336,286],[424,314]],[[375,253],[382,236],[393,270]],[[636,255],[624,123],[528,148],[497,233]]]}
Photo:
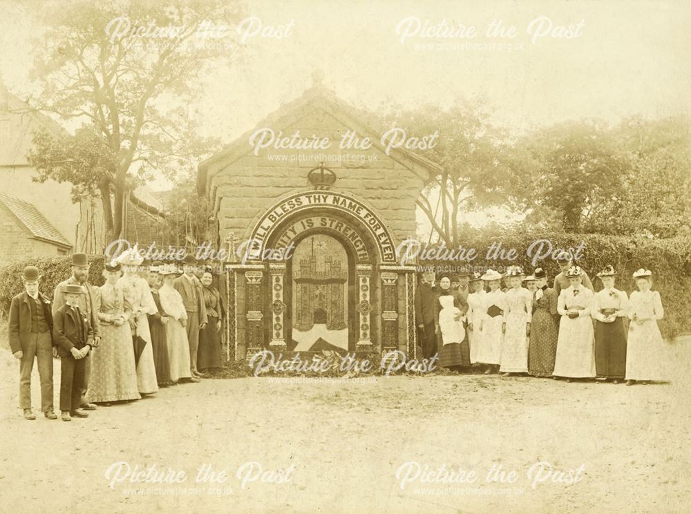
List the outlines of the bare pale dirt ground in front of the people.
{"label": "bare pale dirt ground in front of the people", "polygon": [[[480,375],[207,379],[64,423],[21,417],[18,364],[3,350],[0,511],[688,512],[691,338],[665,359],[671,383],[632,387]],[[55,374],[57,406],[58,361]],[[538,462],[549,465],[529,476]],[[126,466],[152,465],[187,479],[126,477]],[[196,482],[205,465],[225,481]],[[474,471],[475,482],[425,481],[417,466]],[[487,482],[492,466],[514,482]]]}

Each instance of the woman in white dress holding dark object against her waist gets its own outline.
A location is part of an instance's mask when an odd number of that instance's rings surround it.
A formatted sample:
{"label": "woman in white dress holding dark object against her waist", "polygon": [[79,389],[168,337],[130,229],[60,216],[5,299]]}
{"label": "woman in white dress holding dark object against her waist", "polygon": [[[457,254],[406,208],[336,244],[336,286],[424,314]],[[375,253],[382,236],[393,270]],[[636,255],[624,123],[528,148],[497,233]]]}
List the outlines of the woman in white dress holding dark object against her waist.
{"label": "woman in white dress holding dark object against her waist", "polygon": [[489,291],[484,295],[482,323],[480,323],[480,348],[477,349],[477,362],[487,364],[484,374],[497,371],[501,362],[502,341],[507,330],[507,296],[499,288],[502,274],[488,269],[482,275]]}

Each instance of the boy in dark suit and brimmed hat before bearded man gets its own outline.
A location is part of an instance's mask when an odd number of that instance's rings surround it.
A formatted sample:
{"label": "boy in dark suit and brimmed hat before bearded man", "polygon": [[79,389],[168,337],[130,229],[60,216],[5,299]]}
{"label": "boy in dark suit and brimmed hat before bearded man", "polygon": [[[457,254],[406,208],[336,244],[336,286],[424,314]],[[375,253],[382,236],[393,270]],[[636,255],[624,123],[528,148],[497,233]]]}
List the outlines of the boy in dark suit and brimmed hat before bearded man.
{"label": "boy in dark suit and brimmed hat before bearded man", "polygon": [[84,295],[82,287],[66,285],[62,293],[66,303],[55,311],[53,341],[61,358],[61,418],[62,421],[71,421],[70,416],[88,417],[88,413],[79,406],[82,403],[84,361],[93,347],[93,329],[86,314],[79,309],[79,296]]}

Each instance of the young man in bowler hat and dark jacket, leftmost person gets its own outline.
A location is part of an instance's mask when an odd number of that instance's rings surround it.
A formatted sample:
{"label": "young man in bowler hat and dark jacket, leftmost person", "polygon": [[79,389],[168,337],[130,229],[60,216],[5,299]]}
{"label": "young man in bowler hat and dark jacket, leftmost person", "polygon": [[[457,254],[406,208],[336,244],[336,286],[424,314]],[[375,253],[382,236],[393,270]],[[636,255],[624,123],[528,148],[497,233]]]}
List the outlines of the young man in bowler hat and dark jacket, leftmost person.
{"label": "young man in bowler hat and dark jacket, leftmost person", "polygon": [[34,358],[39,362],[41,377],[41,410],[48,419],[56,419],[53,412],[53,316],[50,300],[39,293],[41,276],[34,266],[24,268],[24,292],[10,303],[8,339],[12,355],[19,359],[19,408],[26,419],[36,419],[31,410],[31,372]]}

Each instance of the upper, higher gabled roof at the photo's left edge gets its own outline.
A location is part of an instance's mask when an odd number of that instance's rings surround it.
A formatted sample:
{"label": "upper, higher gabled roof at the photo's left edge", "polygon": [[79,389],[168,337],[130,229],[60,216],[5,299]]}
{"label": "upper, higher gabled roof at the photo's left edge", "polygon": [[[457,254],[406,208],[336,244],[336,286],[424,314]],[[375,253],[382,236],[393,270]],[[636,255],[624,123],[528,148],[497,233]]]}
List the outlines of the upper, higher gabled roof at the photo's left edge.
{"label": "upper, higher gabled roof at the photo's left edge", "polygon": [[26,166],[26,154],[33,147],[35,132],[66,135],[52,118],[33,110],[8,91],[0,80],[0,122],[10,124],[10,137],[0,141],[0,166]]}

